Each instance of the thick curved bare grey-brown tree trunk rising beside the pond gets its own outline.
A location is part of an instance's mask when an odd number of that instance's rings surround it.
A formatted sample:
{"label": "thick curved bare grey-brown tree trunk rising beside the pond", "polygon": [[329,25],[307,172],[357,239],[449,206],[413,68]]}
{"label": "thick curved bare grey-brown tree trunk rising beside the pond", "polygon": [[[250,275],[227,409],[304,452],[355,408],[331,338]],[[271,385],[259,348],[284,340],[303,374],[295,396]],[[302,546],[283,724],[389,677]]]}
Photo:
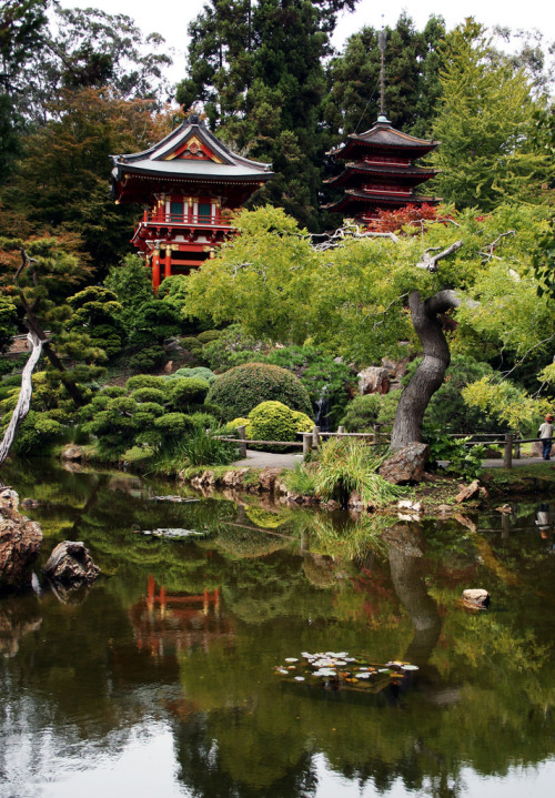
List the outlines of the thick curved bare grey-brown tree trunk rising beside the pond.
{"label": "thick curved bare grey-brown tree trunk rising beside the pond", "polygon": [[455,291],[438,291],[425,301],[422,301],[420,291],[413,291],[408,297],[411,319],[424,356],[401,395],[391,434],[393,449],[422,438],[424,413],[434,393],[443,385],[451,363],[450,347],[437,314],[460,304],[461,297]]}

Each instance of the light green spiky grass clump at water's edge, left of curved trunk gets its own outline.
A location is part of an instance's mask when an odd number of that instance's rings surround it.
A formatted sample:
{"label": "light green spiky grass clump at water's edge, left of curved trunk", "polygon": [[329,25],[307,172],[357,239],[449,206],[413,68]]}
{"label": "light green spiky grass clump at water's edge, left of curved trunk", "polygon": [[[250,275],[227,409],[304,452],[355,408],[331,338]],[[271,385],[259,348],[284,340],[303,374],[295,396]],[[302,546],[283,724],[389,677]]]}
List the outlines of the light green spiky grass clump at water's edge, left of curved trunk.
{"label": "light green spiky grass clump at water's edge, left of curved trunk", "polygon": [[355,438],[332,438],[323,444],[320,458],[295,468],[289,477],[292,491],[314,495],[345,506],[355,492],[365,506],[386,507],[403,496],[405,488],[392,485],[377,469],[384,458]]}

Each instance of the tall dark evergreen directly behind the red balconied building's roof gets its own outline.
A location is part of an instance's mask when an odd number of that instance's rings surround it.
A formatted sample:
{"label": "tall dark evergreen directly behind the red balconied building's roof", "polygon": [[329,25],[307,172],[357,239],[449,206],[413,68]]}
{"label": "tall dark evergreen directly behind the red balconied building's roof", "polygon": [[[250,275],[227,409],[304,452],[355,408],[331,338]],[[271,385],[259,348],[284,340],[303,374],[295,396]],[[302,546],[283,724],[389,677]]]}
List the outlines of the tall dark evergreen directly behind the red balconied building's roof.
{"label": "tall dark evergreen directly behind the red balconied building's roof", "polygon": [[211,0],[191,23],[184,105],[202,102],[210,124],[276,176],[251,204],[284,206],[317,228],[323,153],[323,59],[337,11],[356,0]]}

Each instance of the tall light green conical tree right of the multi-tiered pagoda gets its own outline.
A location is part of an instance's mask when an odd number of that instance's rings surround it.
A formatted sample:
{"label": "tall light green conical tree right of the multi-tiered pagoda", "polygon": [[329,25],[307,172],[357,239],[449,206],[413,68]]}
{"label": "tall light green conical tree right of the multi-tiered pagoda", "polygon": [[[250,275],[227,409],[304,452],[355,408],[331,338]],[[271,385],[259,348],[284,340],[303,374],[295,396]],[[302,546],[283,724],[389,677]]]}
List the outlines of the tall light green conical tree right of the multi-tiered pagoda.
{"label": "tall light green conical tree right of the multi-tiered pagoda", "polygon": [[432,162],[438,193],[457,206],[490,211],[506,201],[538,202],[553,164],[533,147],[535,104],[524,72],[491,58],[484,28],[473,19],[442,49],[443,95],[434,123],[441,141]]}

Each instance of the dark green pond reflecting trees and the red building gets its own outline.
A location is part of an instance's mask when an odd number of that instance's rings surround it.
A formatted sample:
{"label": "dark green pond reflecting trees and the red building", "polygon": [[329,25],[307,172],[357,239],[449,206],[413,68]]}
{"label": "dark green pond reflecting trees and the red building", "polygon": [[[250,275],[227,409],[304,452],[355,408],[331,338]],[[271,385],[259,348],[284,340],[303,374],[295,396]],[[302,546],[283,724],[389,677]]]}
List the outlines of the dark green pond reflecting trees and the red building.
{"label": "dark green pond reflecting trees and the red building", "polygon": [[[78,539],[103,577],[0,599],[1,798],[553,795],[555,504],[361,525],[38,468],[2,473],[39,501],[37,575]],[[286,663],[326,651],[418,669]]]}

